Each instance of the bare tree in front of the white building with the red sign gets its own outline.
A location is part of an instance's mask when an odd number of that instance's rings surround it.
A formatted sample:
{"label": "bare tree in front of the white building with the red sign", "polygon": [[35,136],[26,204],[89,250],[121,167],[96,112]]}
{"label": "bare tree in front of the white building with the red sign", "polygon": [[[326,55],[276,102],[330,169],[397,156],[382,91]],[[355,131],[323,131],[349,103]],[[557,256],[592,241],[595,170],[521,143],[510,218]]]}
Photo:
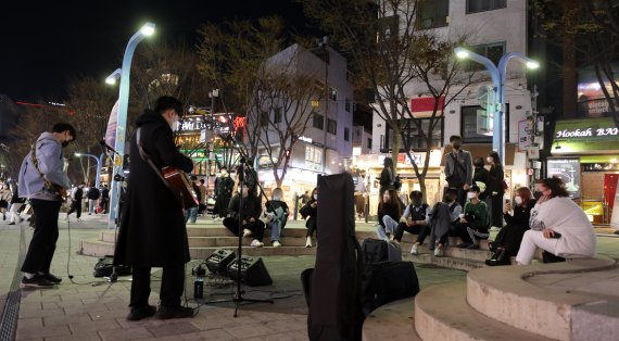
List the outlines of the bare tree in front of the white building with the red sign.
{"label": "bare tree in front of the white building with the red sign", "polygon": [[[443,100],[446,105],[470,83],[470,75],[463,74],[452,59],[453,48],[463,45],[465,37],[447,39],[420,29],[417,0],[302,2],[307,14],[332,34],[333,41],[351,59],[361,80],[358,86],[374,92],[374,112],[393,131],[390,146],[393,160],[397,160],[402,150],[407,153],[425,193],[432,134],[442,118]],[[429,93],[434,99],[428,125],[422,126],[410,110],[412,91]],[[426,162],[421,169],[410,154],[412,139],[405,136],[404,127],[409,122],[426,139],[421,148]]]}

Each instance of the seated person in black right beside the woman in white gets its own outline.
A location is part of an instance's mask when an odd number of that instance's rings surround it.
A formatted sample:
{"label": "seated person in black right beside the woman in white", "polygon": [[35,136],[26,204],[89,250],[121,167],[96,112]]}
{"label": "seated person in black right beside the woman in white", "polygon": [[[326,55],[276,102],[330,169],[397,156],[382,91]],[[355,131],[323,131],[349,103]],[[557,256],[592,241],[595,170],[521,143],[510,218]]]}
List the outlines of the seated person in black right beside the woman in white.
{"label": "seated person in black right beside the woman in white", "polygon": [[527,187],[517,189],[514,202],[516,203],[514,215],[509,214],[509,204],[506,204],[503,209],[507,224],[498,231],[496,239],[489,243],[490,251],[494,252],[494,254],[490,260],[485,261],[488,266],[509,265],[509,257],[518,254],[522,236],[529,230],[531,209],[535,205],[531,190]]}

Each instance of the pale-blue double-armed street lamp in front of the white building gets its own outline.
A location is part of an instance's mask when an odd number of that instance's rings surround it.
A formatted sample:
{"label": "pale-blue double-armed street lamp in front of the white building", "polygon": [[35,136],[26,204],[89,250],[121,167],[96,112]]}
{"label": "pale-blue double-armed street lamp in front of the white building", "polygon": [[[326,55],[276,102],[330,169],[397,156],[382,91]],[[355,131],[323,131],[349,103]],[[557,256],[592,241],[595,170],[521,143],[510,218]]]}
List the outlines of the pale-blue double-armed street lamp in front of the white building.
{"label": "pale-blue double-armed street lamp in front of the white building", "polygon": [[[501,58],[498,61],[498,66],[488,58],[468,51],[463,48],[455,48],[456,56],[459,59],[470,59],[477,63],[482,64],[490,72],[490,78],[492,79],[492,87],[494,88],[494,99],[493,104],[490,105],[494,113],[493,115],[493,134],[492,134],[492,150],[498,152],[498,159],[504,162],[505,154],[505,132],[504,132],[504,121],[505,121],[505,83],[507,79],[507,63],[509,60],[517,58],[526,62],[528,68],[538,68],[540,64],[532,59],[520,52],[509,52]],[[497,105],[498,104],[498,105]],[[490,113],[489,113],[490,114]]]}

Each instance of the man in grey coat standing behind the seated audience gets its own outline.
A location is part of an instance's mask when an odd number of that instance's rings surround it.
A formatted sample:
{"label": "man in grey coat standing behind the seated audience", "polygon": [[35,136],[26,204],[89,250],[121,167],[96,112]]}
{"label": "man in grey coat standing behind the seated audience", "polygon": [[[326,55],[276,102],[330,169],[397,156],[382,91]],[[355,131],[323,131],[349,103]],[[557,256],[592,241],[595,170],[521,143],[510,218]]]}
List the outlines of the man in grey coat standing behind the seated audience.
{"label": "man in grey coat standing behind the seated audience", "polygon": [[470,153],[460,148],[462,137],[452,135],[450,137],[452,151],[445,154],[445,180],[449,188],[458,190],[458,203],[464,205],[466,202],[466,192],[472,185],[472,157]]}

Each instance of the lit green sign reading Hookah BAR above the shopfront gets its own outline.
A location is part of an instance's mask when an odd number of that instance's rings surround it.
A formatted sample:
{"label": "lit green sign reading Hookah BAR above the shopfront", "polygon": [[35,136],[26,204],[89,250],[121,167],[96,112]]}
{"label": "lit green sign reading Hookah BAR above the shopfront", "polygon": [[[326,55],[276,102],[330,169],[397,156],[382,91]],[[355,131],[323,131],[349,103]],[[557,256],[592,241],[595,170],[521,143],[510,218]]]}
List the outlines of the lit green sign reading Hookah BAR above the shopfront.
{"label": "lit green sign reading Hookah BAR above the shopfront", "polygon": [[619,129],[611,117],[557,121],[554,132],[553,155],[619,151]]}

